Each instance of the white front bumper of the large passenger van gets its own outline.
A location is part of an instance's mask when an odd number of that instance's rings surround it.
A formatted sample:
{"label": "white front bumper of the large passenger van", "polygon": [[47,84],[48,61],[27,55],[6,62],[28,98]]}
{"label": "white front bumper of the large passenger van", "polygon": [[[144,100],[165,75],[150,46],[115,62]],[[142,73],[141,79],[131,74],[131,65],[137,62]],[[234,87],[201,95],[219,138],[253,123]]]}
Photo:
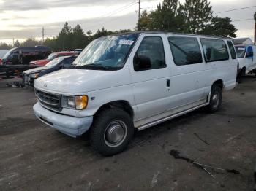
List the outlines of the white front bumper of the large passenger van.
{"label": "white front bumper of the large passenger van", "polygon": [[77,137],[89,130],[93,117],[71,117],[51,112],[42,107],[38,102],[33,106],[34,114],[39,120],[68,136]]}

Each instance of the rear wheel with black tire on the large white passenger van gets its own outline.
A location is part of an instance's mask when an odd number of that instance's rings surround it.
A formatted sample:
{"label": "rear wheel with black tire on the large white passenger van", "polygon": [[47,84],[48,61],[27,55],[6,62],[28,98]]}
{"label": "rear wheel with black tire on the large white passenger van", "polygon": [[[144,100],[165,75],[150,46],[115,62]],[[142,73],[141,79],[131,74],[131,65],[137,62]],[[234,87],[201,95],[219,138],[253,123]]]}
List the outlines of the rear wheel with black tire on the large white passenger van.
{"label": "rear wheel with black tire on the large white passenger van", "polygon": [[217,85],[211,87],[210,103],[208,104],[208,112],[217,112],[222,104],[222,88]]}

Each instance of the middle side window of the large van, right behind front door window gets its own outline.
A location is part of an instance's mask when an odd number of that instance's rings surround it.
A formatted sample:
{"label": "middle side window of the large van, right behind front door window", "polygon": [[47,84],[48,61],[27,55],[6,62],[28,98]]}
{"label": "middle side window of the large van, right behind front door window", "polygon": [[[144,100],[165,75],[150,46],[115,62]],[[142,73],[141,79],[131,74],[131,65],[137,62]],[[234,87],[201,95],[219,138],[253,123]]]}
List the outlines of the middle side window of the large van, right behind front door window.
{"label": "middle side window of the large van, right behind front door window", "polygon": [[197,38],[171,36],[168,38],[174,63],[178,66],[202,63],[202,54]]}

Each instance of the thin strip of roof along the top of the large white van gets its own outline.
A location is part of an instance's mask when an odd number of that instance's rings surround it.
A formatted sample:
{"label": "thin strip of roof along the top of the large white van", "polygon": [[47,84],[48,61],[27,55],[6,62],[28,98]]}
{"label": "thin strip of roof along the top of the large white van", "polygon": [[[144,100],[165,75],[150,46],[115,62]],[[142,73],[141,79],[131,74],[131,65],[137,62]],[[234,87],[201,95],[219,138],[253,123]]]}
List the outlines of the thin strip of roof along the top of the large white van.
{"label": "thin strip of roof along the top of the large white van", "polygon": [[[183,34],[183,33],[173,33],[168,31],[133,31],[133,32],[127,32],[127,33],[120,33],[120,34],[179,34],[179,35],[187,35],[187,36],[211,37],[215,39],[232,39],[230,37],[203,35],[203,34]],[[110,34],[108,36],[112,36],[112,35],[115,35],[115,34]]]}

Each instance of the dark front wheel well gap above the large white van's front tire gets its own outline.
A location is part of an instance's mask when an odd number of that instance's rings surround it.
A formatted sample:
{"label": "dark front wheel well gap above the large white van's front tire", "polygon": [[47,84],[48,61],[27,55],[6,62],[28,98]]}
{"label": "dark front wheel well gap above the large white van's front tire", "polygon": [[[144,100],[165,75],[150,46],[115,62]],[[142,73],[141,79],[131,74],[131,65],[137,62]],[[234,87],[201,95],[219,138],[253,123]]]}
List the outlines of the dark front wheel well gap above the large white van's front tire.
{"label": "dark front wheel well gap above the large white van's front tire", "polygon": [[103,109],[109,109],[109,108],[119,108],[119,109],[124,109],[125,112],[129,114],[130,117],[133,118],[133,109],[132,106],[130,106],[128,101],[124,100],[119,100],[119,101],[111,101],[108,104],[104,104],[101,106],[95,115],[97,115],[99,112],[101,112]]}

